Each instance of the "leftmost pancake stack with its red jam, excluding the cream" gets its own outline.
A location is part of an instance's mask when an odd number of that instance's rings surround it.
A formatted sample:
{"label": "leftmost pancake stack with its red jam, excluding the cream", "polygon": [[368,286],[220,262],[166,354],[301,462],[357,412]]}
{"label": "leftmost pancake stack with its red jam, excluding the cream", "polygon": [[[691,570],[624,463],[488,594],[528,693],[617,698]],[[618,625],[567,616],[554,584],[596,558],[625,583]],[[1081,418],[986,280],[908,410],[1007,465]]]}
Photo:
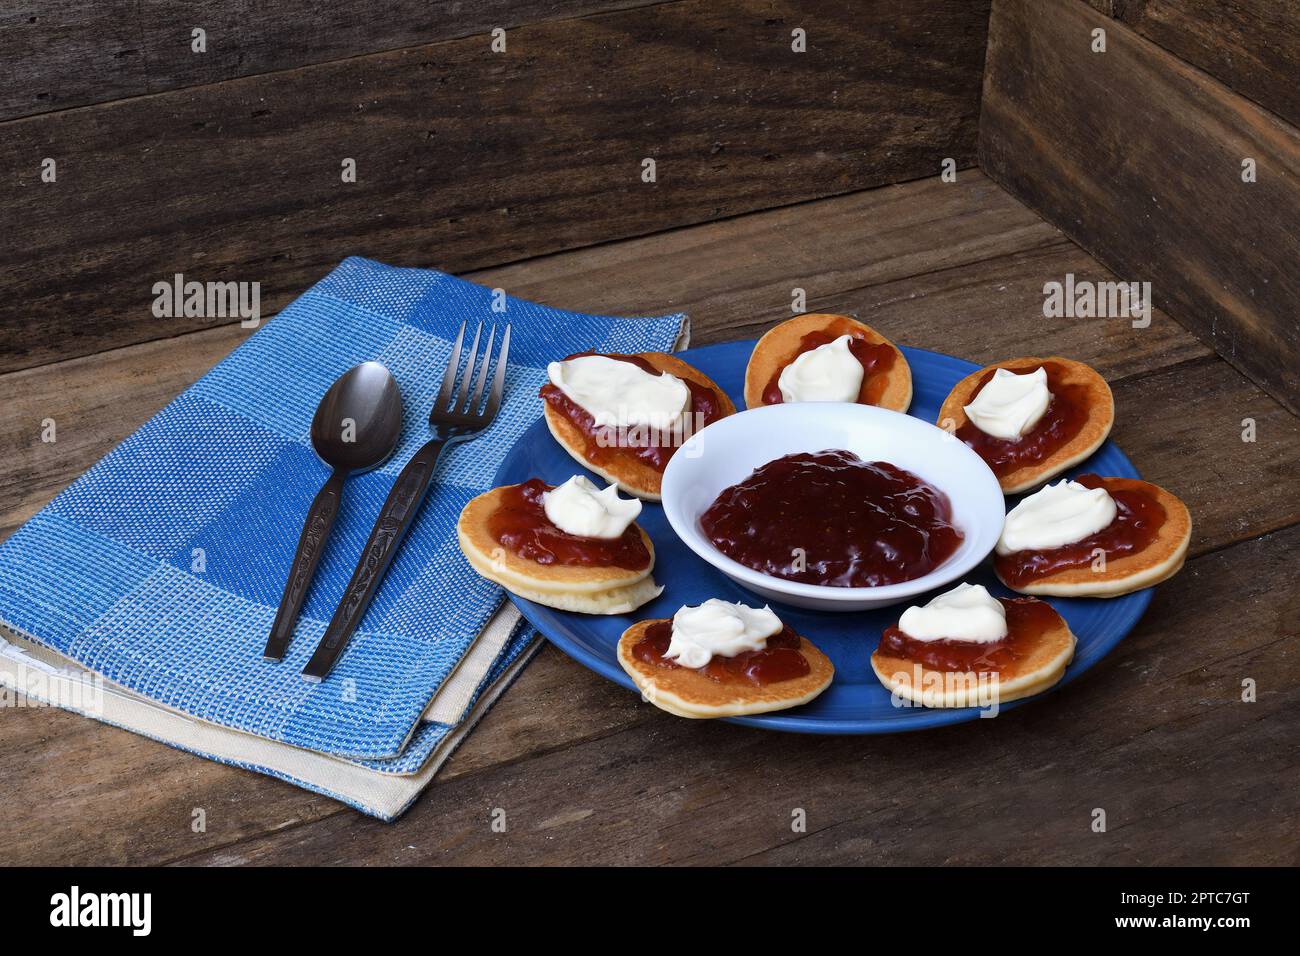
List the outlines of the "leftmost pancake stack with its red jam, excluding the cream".
{"label": "leftmost pancake stack with its red jam, excluding the cream", "polygon": [[532,479],[465,505],[456,536],[474,571],[528,601],[582,614],[625,614],[660,594],[654,544],[638,524],[612,540],[568,533],[546,515],[550,490]]}

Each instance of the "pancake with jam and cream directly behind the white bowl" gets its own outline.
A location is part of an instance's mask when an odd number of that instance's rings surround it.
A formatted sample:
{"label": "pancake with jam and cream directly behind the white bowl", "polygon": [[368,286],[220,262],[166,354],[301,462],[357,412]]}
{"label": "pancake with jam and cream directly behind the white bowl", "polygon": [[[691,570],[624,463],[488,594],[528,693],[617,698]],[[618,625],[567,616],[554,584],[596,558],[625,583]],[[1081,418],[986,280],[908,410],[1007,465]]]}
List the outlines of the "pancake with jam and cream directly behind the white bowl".
{"label": "pancake with jam and cream directly behind the white bowl", "polygon": [[911,368],[893,342],[844,315],[796,316],[758,339],[745,368],[745,405],[911,405]]}

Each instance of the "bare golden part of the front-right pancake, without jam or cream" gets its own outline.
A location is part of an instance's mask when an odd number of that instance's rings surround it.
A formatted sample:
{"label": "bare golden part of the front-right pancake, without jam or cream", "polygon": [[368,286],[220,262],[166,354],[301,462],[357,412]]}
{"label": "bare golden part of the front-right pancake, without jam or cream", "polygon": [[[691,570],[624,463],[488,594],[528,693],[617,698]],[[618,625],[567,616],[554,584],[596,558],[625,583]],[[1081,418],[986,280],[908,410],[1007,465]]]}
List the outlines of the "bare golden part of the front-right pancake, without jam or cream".
{"label": "bare golden part of the front-right pancake, without jam or cream", "polygon": [[890,693],[927,708],[974,708],[991,702],[1009,704],[1048,689],[1065,674],[1074,658],[1075,637],[1070,626],[1056,610],[1050,628],[1037,635],[1026,648],[1026,656],[1006,665],[1000,672],[996,697],[985,678],[983,692],[979,675],[972,671],[941,671],[916,661],[884,654],[878,648],[871,654],[871,669]]}

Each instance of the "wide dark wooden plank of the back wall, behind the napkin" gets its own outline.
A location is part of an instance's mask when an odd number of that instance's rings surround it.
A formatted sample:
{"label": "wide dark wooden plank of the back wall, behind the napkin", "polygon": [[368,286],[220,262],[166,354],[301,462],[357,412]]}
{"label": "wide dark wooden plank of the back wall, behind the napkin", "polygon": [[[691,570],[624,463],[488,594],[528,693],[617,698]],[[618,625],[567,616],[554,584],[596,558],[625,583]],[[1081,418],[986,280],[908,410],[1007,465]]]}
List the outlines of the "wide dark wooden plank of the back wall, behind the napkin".
{"label": "wide dark wooden plank of the back wall, behind the napkin", "polygon": [[987,7],[681,0],[4,124],[0,369],[224,321],[156,319],[176,273],[265,315],[350,254],[464,272],[970,165]]}

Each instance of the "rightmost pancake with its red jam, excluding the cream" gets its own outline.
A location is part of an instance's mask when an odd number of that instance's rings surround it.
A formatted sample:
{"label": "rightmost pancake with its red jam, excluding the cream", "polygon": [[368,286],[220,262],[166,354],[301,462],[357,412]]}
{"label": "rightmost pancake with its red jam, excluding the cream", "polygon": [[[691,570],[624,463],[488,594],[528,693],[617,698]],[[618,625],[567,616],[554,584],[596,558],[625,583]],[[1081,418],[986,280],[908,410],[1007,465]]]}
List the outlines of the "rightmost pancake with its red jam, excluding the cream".
{"label": "rightmost pancake with its red jam, excluding the cream", "polygon": [[1176,496],[1138,479],[1080,475],[1074,481],[1105,488],[1115,502],[1114,520],[1061,548],[1004,554],[1000,542],[993,571],[1002,584],[1022,594],[1119,597],[1178,574],[1192,540],[1192,516]]}

